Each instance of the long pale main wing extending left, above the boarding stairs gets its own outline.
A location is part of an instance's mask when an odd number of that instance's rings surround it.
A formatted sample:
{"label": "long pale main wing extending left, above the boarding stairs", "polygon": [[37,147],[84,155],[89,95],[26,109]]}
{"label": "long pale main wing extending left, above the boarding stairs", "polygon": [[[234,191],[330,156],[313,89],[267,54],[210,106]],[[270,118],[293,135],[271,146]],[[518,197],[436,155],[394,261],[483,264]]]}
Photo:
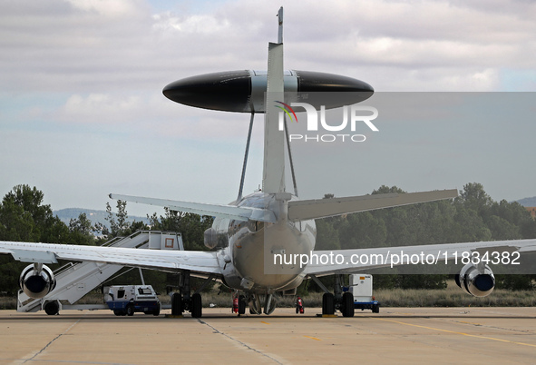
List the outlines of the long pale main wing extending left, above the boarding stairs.
{"label": "long pale main wing extending left, above the boarding stairs", "polygon": [[72,244],[0,242],[0,253],[23,262],[96,261],[162,271],[221,273],[216,252],[166,251]]}

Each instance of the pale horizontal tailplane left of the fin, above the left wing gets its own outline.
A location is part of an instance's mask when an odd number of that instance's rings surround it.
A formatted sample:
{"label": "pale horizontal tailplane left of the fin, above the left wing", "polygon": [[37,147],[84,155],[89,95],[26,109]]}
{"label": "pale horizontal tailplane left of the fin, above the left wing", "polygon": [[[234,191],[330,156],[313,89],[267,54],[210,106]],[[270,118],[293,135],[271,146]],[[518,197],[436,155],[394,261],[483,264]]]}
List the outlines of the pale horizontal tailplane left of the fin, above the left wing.
{"label": "pale horizontal tailplane left of the fin, above the left wing", "polygon": [[249,220],[253,220],[261,222],[276,222],[276,217],[273,212],[259,208],[238,207],[236,205],[227,204],[208,204],[204,202],[180,202],[120,194],[110,194],[110,198],[124,202],[139,202],[141,204],[166,207],[171,209],[171,211],[224,217],[237,221],[247,222]]}

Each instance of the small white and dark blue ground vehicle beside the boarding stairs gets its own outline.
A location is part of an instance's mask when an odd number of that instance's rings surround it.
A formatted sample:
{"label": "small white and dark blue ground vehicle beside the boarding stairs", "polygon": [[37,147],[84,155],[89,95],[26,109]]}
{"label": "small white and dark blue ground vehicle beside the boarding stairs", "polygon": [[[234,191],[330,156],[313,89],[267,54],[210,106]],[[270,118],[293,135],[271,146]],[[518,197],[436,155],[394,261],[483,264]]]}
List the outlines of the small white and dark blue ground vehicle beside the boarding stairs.
{"label": "small white and dark blue ground vehicle beside the boarding stairs", "polygon": [[151,285],[117,285],[104,287],[104,301],[116,316],[143,312],[158,316],[161,302]]}

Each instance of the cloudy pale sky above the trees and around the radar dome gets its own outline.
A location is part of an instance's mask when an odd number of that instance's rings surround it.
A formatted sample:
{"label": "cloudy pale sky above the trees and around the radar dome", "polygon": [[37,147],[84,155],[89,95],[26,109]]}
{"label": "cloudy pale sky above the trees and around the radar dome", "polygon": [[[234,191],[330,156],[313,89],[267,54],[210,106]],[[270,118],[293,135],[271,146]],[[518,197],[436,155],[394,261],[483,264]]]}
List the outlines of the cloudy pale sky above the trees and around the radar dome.
{"label": "cloudy pale sky above the trees and around the radar dome", "polygon": [[[536,195],[528,0],[0,0],[0,194],[35,186],[54,210],[102,210],[111,192],[231,202],[249,115],[175,104],[161,90],[265,70],[280,5],[286,68],[363,80],[379,111],[363,143],[292,144],[300,197],[467,182],[495,201]],[[245,192],[261,183],[260,116],[250,153]]]}

